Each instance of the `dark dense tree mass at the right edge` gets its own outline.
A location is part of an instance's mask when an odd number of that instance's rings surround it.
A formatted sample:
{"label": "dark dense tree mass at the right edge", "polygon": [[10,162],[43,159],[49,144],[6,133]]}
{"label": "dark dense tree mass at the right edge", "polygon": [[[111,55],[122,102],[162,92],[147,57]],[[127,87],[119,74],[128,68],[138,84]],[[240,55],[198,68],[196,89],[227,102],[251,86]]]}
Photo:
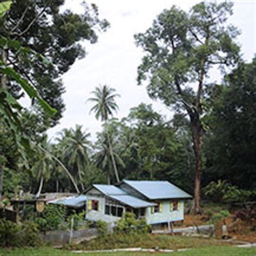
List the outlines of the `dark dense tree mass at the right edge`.
{"label": "dark dense tree mass at the right edge", "polygon": [[207,181],[228,180],[251,190],[256,183],[256,58],[241,63],[225,83],[215,85],[206,134]]}

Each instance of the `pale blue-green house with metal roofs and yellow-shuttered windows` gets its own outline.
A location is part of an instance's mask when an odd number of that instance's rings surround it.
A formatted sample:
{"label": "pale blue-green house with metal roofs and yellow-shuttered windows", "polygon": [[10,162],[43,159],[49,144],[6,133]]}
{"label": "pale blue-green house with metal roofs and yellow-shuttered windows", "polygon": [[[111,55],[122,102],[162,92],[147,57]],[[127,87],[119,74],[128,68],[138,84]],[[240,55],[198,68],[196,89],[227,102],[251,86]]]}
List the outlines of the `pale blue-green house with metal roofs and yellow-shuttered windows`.
{"label": "pale blue-green house with metal roofs and yellow-shuttered windows", "polygon": [[184,200],[192,198],[168,181],[123,180],[117,185],[92,185],[85,191],[86,219],[109,223],[123,212],[145,217],[147,224],[169,224],[184,219]]}

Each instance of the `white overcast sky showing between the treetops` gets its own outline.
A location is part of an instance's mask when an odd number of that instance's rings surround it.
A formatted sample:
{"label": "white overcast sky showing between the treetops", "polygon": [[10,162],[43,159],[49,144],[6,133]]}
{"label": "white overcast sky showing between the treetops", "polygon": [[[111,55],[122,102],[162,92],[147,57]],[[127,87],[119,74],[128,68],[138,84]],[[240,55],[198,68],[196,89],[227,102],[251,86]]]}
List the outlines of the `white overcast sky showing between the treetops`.
{"label": "white overcast sky showing between the treetops", "polygon": [[[65,7],[80,13],[83,8],[80,0],[66,0]],[[138,86],[136,82],[137,67],[141,62],[143,51],[134,44],[133,35],[145,32],[153,19],[163,9],[177,5],[188,11],[192,5],[200,1],[167,1],[167,0],[94,0],[100,18],[106,18],[111,28],[100,33],[98,43],[83,44],[87,56],[77,60],[72,68],[63,76],[66,92],[63,95],[66,110],[60,124],[48,131],[49,137],[54,138],[56,132],[64,127],[84,126],[95,140],[96,132],[101,129],[101,123],[93,113],[89,115],[90,103],[86,99],[90,92],[99,84],[114,87],[122,96],[117,99],[119,111],[116,117],[127,116],[131,107],[138,104],[152,103],[154,110],[170,117],[171,113],[160,102],[154,102],[147,96],[146,86]],[[242,32],[239,43],[244,59],[250,62],[255,51],[255,12],[254,1],[237,1],[234,3],[234,14],[228,20]],[[215,79],[215,78],[214,78]]]}

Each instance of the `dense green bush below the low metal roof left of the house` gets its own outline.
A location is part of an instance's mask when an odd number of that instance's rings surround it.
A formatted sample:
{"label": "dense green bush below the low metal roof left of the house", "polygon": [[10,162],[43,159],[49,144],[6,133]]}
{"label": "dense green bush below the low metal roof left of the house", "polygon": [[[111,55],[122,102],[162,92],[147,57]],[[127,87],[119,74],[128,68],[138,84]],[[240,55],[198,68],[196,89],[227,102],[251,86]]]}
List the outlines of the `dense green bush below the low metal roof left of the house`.
{"label": "dense green bush below the low metal roof left of the house", "polygon": [[48,204],[41,215],[35,218],[35,222],[41,231],[58,230],[63,227],[65,216],[65,206]]}

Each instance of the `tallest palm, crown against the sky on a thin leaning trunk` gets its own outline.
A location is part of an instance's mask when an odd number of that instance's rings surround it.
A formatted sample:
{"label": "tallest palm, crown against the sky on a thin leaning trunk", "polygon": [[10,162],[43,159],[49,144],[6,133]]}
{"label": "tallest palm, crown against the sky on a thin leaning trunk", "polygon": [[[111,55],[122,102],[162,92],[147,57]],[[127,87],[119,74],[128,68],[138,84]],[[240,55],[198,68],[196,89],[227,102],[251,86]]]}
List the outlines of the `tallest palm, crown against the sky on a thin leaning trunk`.
{"label": "tallest palm, crown against the sky on a thin leaning trunk", "polygon": [[[118,110],[118,105],[115,102],[114,98],[119,97],[120,95],[114,92],[116,92],[116,90],[107,85],[99,86],[96,87],[95,91],[91,92],[94,95],[94,97],[88,99],[90,102],[95,103],[95,105],[91,108],[90,112],[95,112],[96,119],[98,120],[100,118],[102,122],[104,122],[105,124],[107,123],[109,117],[113,116],[113,111],[117,112]],[[106,136],[107,142],[109,144],[114,174],[116,176],[117,182],[119,182],[119,174],[117,170],[116,160],[114,159],[114,153],[108,129],[106,129]]]}

